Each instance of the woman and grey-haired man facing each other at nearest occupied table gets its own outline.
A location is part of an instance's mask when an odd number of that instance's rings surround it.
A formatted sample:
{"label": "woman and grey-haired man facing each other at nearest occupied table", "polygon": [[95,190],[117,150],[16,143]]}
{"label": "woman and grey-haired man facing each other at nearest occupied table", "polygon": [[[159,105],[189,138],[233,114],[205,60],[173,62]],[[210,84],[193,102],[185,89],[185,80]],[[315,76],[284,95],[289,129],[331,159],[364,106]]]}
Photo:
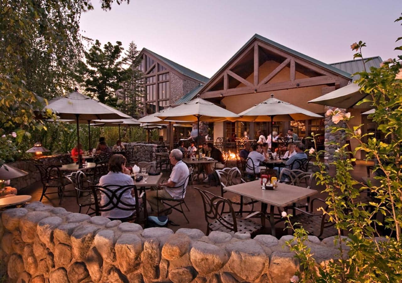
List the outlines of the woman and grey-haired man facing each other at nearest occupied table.
{"label": "woman and grey-haired man facing each other at nearest occupied table", "polygon": [[[158,208],[159,211],[165,211],[166,208],[164,207],[163,202],[160,201],[160,198],[182,198],[183,185],[185,187],[187,186],[187,177],[190,174],[189,168],[182,159],[183,153],[179,149],[173,149],[169,154],[170,163],[173,165],[170,178],[167,182],[160,183],[155,188],[146,192],[146,200],[152,209],[152,214],[157,215]],[[116,188],[118,188],[117,186],[134,185],[134,180],[130,175],[130,170],[126,168],[126,162],[127,159],[123,155],[112,155],[108,164],[109,173],[100,177],[99,186],[112,186],[113,188],[113,185],[116,185]],[[121,200],[128,205],[135,205],[134,192],[128,190],[125,191],[121,196]],[[109,197],[103,194],[100,204],[106,205],[108,201]],[[121,205],[121,207],[128,208],[124,205]],[[134,213],[135,211],[133,210],[128,211],[116,207],[109,211],[103,211],[101,215],[112,219],[124,219],[130,217]],[[169,215],[170,213],[172,213],[172,209],[165,211],[165,215]]]}

